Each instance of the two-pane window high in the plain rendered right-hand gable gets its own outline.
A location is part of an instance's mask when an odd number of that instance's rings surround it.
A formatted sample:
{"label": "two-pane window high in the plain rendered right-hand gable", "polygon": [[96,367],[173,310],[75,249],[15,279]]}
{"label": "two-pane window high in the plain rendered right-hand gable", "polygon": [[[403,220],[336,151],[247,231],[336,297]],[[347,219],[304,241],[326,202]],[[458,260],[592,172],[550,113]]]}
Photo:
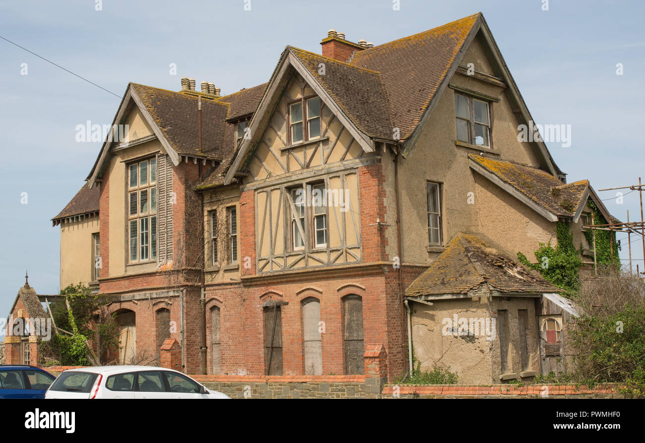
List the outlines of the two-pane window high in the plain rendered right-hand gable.
{"label": "two-pane window high in the plain rendered right-hand gable", "polygon": [[485,101],[455,94],[457,140],[490,146],[490,111]]}

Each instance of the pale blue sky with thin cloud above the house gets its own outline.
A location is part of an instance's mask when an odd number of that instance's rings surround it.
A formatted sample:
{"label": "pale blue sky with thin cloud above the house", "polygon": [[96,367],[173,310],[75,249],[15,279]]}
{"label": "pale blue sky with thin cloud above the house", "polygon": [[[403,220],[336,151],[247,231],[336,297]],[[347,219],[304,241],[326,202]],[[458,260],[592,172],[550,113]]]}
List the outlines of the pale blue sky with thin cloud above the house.
{"label": "pale blue sky with thin cloud above the house", "polygon": [[[96,10],[95,0],[21,0],[0,5],[0,35],[119,96],[130,81],[179,90],[183,75],[230,94],[267,81],[288,44],[319,53],[329,28],[380,44],[481,11],[536,123],[571,124],[570,147],[548,145],[568,181],[589,179],[598,190],[645,180],[644,142],[631,137],[645,103],[642,2],[551,0],[548,11],[542,0],[401,0],[398,11],[392,0],[245,3],[103,0]],[[59,228],[50,219],[101,145],[76,143],[75,127],[110,124],[119,98],[1,39],[0,86],[2,316],[26,269],[39,293],[59,290]],[[623,204],[600,195],[616,217],[640,217],[637,192]],[[632,241],[642,270],[640,240]]]}

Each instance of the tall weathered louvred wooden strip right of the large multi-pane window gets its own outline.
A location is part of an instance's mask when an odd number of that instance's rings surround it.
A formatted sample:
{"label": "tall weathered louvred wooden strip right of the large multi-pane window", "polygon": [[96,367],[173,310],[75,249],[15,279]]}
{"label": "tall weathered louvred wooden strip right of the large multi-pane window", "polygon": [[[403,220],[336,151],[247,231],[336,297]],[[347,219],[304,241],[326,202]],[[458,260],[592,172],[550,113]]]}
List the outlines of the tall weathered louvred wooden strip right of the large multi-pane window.
{"label": "tall weathered louvred wooden strip right of the large multi-pane window", "polygon": [[157,263],[172,260],[172,162],[170,157],[157,154]]}

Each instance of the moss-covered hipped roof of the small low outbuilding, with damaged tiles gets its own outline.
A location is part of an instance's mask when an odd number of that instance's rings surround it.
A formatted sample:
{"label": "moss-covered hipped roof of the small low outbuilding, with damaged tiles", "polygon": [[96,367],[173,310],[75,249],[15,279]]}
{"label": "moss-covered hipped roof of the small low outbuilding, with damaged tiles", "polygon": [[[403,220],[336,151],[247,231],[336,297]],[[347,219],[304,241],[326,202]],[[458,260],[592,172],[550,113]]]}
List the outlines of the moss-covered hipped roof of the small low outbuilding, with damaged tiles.
{"label": "moss-covered hipped roof of the small low outbuilding, with damaged tiles", "polygon": [[503,293],[554,293],[560,290],[510,258],[483,235],[459,233],[405,291],[406,297],[465,295],[488,285]]}

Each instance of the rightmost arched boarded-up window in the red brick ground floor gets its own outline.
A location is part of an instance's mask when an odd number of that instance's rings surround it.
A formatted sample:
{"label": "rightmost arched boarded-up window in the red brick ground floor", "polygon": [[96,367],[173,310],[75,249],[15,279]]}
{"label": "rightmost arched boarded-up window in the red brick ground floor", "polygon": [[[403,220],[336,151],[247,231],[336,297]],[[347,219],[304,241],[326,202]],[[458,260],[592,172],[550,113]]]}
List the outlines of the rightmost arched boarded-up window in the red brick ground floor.
{"label": "rightmost arched boarded-up window in the red brick ground floor", "polygon": [[362,298],[351,294],[342,297],[343,338],[345,353],[345,373],[356,375],[364,373],[362,327]]}

